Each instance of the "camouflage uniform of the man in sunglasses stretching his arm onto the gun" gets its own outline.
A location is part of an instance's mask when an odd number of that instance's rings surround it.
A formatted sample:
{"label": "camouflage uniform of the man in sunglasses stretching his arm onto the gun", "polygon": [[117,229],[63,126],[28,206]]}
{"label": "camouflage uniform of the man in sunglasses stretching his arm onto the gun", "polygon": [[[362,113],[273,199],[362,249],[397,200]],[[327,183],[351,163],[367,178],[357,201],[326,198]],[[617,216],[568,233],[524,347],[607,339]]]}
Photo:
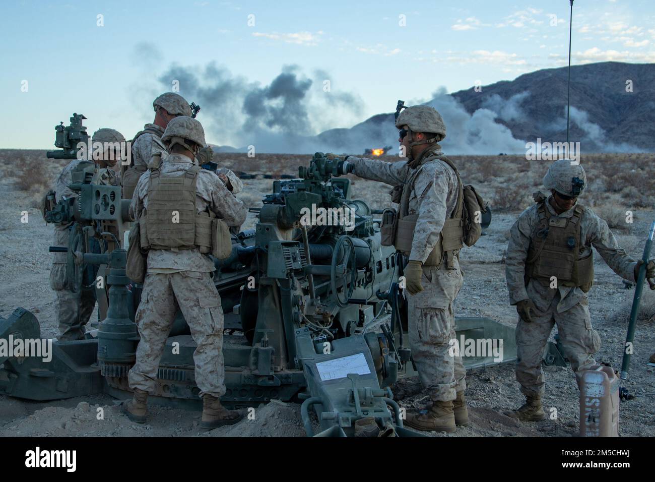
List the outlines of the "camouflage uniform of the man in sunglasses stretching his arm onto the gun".
{"label": "camouflage uniform of the man in sunglasses stretching his arm onto the gun", "polygon": [[[442,155],[432,148],[425,155],[427,162],[411,169],[407,161],[386,163],[348,156],[354,165],[353,174],[397,186],[411,186],[409,214],[419,214],[409,260],[424,263],[439,240],[447,217],[451,216],[458,197],[455,171],[445,162],[430,157]],[[453,268],[447,269],[445,256],[441,266],[423,266],[423,291],[407,295],[409,344],[422,384],[433,400],[454,400],[456,392],[466,390],[466,370],[462,358],[449,353],[455,336],[453,304],[462,287],[462,271],[458,256]]]}

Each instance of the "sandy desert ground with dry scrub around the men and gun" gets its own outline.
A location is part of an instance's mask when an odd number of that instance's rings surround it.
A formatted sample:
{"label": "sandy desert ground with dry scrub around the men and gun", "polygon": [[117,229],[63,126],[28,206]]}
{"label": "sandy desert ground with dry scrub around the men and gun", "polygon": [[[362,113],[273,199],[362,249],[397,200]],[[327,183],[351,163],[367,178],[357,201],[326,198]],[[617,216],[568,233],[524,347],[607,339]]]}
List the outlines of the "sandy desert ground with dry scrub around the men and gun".
{"label": "sandy desert ground with dry scrub around the men and gun", "polygon": [[[220,165],[236,172],[257,174],[244,180],[238,195],[249,207],[261,206],[261,197],[271,192],[272,180],[265,174],[297,175],[299,165],[307,165],[311,155],[245,154],[217,155]],[[504,277],[504,251],[508,231],[517,215],[530,205],[531,193],[543,189],[542,176],[548,161],[526,161],[519,156],[451,157],[458,165],[465,184],[474,184],[490,201],[493,221],[488,235],[460,254],[464,286],[457,298],[457,315],[485,316],[506,325],[515,325],[517,314],[509,305]],[[216,159],[214,159],[216,160]],[[385,156],[383,161],[398,158]],[[633,258],[641,257],[650,222],[655,219],[655,164],[649,154],[583,155],[588,189],[580,202],[607,220],[620,245]],[[45,157],[45,151],[0,150],[0,316],[7,317],[22,306],[39,318],[41,333],[54,337],[54,294],[48,285],[52,238],[39,212],[39,199],[54,184],[65,161]],[[354,180],[354,197],[364,199],[374,209],[387,206],[388,188],[377,182]],[[28,212],[28,222],[21,222]],[[626,222],[626,212],[633,222]],[[245,228],[252,228],[255,214],[249,214]],[[589,292],[592,323],[599,331],[603,346],[597,361],[619,368],[626,338],[627,319],[634,289],[626,289],[602,258],[595,255],[595,285]],[[655,374],[648,365],[655,351],[655,294],[646,287],[635,334],[629,381],[624,384],[635,398],[622,403],[620,434],[655,435]],[[92,317],[92,320],[94,317]],[[553,331],[553,334],[555,331]],[[544,409],[557,409],[557,418],[542,422],[519,423],[502,411],[523,403],[514,378],[514,364],[505,363],[472,370],[467,376],[467,397],[472,424],[452,434],[435,436],[575,436],[578,432],[578,389],[571,369],[545,367]],[[417,407],[427,397],[419,382],[402,380],[392,387],[403,407]],[[103,407],[104,420],[96,420],[96,409]],[[208,433],[198,430],[200,412],[153,407],[149,422],[133,424],[119,413],[109,395],[37,403],[0,395],[0,435],[95,435],[95,436],[303,436],[305,432],[299,406],[272,402],[255,411],[254,420],[243,420],[231,427]]]}

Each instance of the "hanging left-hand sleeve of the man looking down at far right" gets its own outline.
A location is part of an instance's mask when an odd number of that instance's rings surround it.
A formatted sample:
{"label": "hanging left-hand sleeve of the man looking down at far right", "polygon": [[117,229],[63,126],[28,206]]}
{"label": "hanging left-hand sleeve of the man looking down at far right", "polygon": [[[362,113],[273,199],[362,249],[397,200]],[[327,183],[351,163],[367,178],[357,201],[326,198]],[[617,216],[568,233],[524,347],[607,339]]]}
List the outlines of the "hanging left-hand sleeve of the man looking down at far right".
{"label": "hanging left-hand sleeve of the man looking down at far right", "polygon": [[505,258],[505,277],[512,305],[529,298],[525,291],[525,261],[533,230],[532,217],[530,211],[523,211],[510,229],[510,242]]}

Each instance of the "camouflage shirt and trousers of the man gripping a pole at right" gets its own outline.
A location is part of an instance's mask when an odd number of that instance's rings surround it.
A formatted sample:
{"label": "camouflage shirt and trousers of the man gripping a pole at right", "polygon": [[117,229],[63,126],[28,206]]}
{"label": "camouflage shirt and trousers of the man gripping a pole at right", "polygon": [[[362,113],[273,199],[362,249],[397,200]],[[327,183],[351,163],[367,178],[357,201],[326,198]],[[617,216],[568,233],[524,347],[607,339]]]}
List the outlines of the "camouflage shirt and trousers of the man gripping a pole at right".
{"label": "camouflage shirt and trousers of the man gripping a pole at right", "polygon": [[[574,205],[569,211],[558,215],[550,203],[551,199],[552,196],[546,199],[545,206],[556,218],[571,218],[578,207]],[[535,204],[523,211],[512,226],[506,257],[510,303],[515,305],[529,299],[537,310],[536,313],[533,310],[531,323],[519,318],[516,327],[516,380],[521,384],[521,392],[529,397],[541,397],[544,393],[541,359],[553,325],[557,324],[565,355],[578,382],[580,373],[595,365],[593,353],[601,346],[598,333],[591,328],[587,294],[580,287],[565,287],[560,283],[557,288],[550,288],[550,285],[543,285],[536,279],[529,279],[525,284],[525,264],[531,236],[539,223],[538,207]],[[579,259],[591,254],[593,246],[614,272],[635,281],[635,261],[618,245],[607,222],[588,207],[584,207],[580,216],[580,238],[582,251]]]}

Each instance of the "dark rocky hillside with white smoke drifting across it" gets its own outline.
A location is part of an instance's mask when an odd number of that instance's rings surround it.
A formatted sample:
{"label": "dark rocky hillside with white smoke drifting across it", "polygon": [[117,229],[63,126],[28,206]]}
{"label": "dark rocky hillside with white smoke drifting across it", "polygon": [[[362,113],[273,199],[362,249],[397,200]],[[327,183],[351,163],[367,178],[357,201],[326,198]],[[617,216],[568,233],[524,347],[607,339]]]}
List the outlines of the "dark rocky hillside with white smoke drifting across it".
{"label": "dark rocky hillside with white smoke drifting across it", "polygon": [[[631,81],[631,91],[626,82]],[[435,86],[437,88],[438,86]],[[439,94],[428,104],[443,115],[450,153],[521,153],[525,142],[566,140],[567,68],[526,73],[514,81]],[[586,152],[655,150],[655,64],[601,62],[571,67],[571,141]],[[313,142],[358,151],[397,140],[393,114],[350,129],[330,129]]]}

